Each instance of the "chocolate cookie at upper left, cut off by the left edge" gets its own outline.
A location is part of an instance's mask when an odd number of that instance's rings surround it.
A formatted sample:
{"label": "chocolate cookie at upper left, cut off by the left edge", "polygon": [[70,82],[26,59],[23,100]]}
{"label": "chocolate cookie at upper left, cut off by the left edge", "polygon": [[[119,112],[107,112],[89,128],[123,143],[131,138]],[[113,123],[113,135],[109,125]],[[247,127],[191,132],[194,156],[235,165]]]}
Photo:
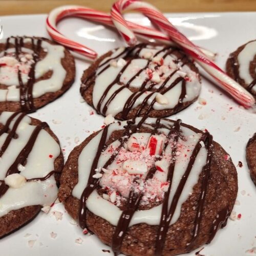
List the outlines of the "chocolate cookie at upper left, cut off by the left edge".
{"label": "chocolate cookie at upper left, cut off by the left edge", "polygon": [[65,93],[75,61],[63,46],[41,37],[0,41],[0,111],[33,112]]}

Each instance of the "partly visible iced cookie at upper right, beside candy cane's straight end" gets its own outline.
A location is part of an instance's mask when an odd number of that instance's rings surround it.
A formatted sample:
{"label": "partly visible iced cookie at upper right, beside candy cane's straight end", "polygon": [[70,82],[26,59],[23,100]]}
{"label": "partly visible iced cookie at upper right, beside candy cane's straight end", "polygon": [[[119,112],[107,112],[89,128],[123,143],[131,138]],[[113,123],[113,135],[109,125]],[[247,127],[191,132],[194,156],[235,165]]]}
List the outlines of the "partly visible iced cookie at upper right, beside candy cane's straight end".
{"label": "partly visible iced cookie at upper right, beside candy cane's straight end", "polygon": [[256,40],[232,52],[226,62],[227,74],[256,98]]}

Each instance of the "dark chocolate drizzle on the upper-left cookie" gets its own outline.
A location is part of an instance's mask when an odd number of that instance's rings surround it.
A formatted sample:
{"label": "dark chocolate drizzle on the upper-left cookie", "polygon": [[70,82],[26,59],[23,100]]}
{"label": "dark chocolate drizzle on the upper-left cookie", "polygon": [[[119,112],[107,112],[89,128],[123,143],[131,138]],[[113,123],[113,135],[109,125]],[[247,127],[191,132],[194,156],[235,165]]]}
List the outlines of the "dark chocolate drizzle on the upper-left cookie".
{"label": "dark chocolate drizzle on the upper-left cookie", "polygon": [[[6,47],[4,56],[8,55],[8,49],[10,48],[10,38],[14,38],[14,48],[15,48],[15,57],[20,62],[20,53],[22,53],[22,47],[24,46],[24,38],[31,39],[31,45],[33,53],[33,63],[30,67],[30,71],[28,74],[28,83],[24,84],[22,79],[22,72],[18,69],[18,87],[20,94],[20,108],[23,112],[34,112],[35,106],[33,102],[33,84],[35,83],[35,66],[37,61],[39,60],[39,52],[41,49],[41,39],[34,37],[8,37],[6,41]],[[36,40],[36,43],[35,43]]]}

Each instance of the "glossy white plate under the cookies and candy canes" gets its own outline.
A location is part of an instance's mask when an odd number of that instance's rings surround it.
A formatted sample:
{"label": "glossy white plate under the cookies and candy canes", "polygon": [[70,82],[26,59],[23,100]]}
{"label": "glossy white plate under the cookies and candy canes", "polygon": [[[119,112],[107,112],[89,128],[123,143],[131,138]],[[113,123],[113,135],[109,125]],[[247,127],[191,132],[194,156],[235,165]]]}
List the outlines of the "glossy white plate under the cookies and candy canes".
{"label": "glossy white plate under the cookies and candy canes", "polygon": [[[256,39],[256,13],[200,13],[200,14],[167,14],[176,25],[196,44],[218,53],[217,63],[225,67],[228,54],[245,42]],[[140,15],[128,15],[133,22],[149,25],[148,20]],[[11,35],[36,35],[48,37],[45,29],[46,15],[23,15],[1,17],[3,26],[1,37]],[[69,18],[59,24],[60,31],[92,47],[99,54],[112,48],[124,45],[121,38],[113,31],[86,20]],[[88,62],[76,59],[76,81],[72,88],[62,97],[32,114],[32,117],[47,121],[58,136],[65,157],[75,145],[83,141],[93,131],[100,129],[103,117],[90,115],[92,108],[80,102],[79,86],[82,71],[89,66]],[[221,229],[215,239],[203,246],[202,254],[209,255],[246,255],[246,250],[255,247],[256,231],[256,187],[253,185],[245,160],[245,146],[248,139],[256,132],[255,114],[252,114],[234,102],[222,90],[206,79],[202,81],[202,98],[207,104],[198,102],[186,110],[172,116],[183,122],[207,130],[230,154],[233,163],[242,161],[243,167],[237,167],[239,190],[237,203],[233,211],[241,214],[240,220],[228,220],[227,226]],[[95,113],[95,112],[94,112]],[[203,119],[201,119],[203,118]],[[240,129],[240,130],[239,130]],[[239,131],[238,131],[239,130]],[[63,213],[62,220],[56,220],[53,210]],[[109,255],[102,249],[110,248],[102,244],[96,236],[83,236],[77,225],[70,223],[71,218],[61,204],[55,204],[46,215],[40,213],[27,226],[0,240],[0,253],[3,256],[27,255]],[[50,233],[57,234],[55,239]],[[24,237],[31,234],[29,237]],[[82,244],[75,243],[77,238]],[[32,248],[28,241],[35,240]],[[195,255],[195,252],[185,255]]]}

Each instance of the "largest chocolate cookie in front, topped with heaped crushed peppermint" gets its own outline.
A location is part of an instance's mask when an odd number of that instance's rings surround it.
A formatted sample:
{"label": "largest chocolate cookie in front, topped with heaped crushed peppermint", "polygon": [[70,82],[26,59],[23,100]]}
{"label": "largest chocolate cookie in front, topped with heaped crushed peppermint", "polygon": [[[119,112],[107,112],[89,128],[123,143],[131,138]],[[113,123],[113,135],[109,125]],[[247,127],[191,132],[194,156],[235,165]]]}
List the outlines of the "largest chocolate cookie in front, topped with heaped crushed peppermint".
{"label": "largest chocolate cookie in front, topped with heaped crushed peppermint", "polygon": [[58,197],[115,253],[176,255],[214,238],[237,191],[236,167],[208,132],[143,117],[75,147]]}

